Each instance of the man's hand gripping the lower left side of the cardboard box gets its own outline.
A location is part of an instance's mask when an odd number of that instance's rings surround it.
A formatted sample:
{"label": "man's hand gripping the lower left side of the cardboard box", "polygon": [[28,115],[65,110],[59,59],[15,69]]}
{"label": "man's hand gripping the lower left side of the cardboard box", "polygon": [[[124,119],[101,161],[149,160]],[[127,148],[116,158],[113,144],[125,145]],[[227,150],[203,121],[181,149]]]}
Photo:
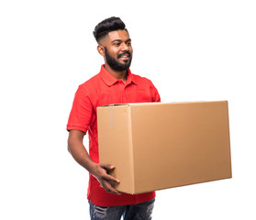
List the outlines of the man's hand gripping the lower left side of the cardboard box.
{"label": "man's hand gripping the lower left side of the cardboard box", "polygon": [[91,173],[93,176],[95,176],[97,181],[100,182],[101,187],[103,187],[106,190],[106,192],[120,194],[120,192],[115,190],[115,188],[113,187],[115,183],[119,183],[120,181],[118,181],[116,178],[108,174],[114,169],[115,167],[113,165],[106,163],[98,163],[95,164],[95,169],[92,170]]}

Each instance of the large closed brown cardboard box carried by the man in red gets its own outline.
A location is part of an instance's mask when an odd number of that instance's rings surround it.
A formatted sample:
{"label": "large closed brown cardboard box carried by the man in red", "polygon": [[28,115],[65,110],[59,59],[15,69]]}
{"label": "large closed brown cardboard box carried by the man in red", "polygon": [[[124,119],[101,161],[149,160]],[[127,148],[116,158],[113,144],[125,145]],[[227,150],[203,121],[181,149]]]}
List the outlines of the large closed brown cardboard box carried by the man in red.
{"label": "large closed brown cardboard box carried by the man in red", "polygon": [[100,162],[119,192],[136,194],[231,178],[228,102],[97,108]]}

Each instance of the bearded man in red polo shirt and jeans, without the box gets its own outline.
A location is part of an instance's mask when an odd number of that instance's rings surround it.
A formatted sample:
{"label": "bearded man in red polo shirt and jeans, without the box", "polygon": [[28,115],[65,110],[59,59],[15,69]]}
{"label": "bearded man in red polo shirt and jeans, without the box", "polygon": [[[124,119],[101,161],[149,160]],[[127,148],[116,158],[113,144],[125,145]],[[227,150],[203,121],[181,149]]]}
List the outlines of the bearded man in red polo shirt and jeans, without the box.
{"label": "bearded man in red polo shirt and jeans, without the box", "polygon": [[[160,102],[152,82],[132,74],[131,39],[118,17],[103,20],[95,27],[97,50],[105,64],[93,78],[81,84],[75,93],[67,130],[72,157],[89,171],[87,199],[91,219],[151,219],[155,192],[131,195],[113,187],[119,181],[108,175],[115,164],[99,163],[96,108],[104,104]],[[83,136],[89,133],[89,154]]]}

